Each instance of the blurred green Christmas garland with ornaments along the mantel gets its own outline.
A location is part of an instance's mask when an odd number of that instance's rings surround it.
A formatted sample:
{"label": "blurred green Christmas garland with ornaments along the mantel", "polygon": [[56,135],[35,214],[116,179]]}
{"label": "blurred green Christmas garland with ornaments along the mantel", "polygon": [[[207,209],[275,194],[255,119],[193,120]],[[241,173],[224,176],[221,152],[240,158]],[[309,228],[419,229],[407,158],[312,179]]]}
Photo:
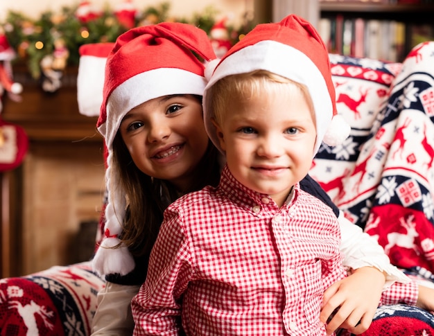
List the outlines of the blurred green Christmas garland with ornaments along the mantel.
{"label": "blurred green Christmas garland with ornaments along the mantel", "polygon": [[[133,27],[179,21],[194,24],[210,34],[217,24],[215,18],[218,11],[212,6],[205,8],[202,13],[193,14],[191,19],[171,17],[168,15],[169,9],[169,3],[161,3],[138,10],[130,0],[125,0],[114,9],[108,6],[98,9],[89,1],[81,1],[76,6],[63,7],[60,12],[43,12],[38,19],[10,11],[6,21],[0,22],[0,38],[1,35],[6,37],[15,51],[13,62],[25,62],[31,76],[39,79],[44,76],[46,68],[62,71],[69,65],[77,65],[78,48],[81,45],[114,42],[121,33]],[[225,25],[227,42],[233,44],[251,28],[252,20],[248,19],[248,15],[245,15],[243,24],[238,28]]]}

